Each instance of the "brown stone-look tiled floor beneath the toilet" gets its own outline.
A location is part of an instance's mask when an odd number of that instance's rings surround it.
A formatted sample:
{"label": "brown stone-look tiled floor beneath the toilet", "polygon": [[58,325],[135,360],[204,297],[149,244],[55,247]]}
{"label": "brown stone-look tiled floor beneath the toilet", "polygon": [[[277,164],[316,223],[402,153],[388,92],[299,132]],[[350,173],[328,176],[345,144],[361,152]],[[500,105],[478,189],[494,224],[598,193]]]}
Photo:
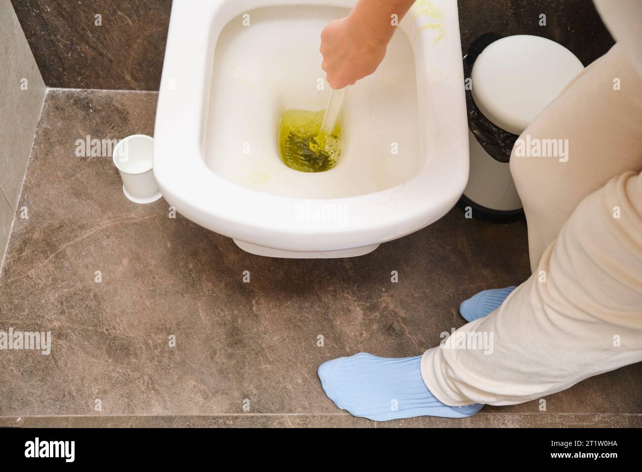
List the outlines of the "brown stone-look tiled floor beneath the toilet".
{"label": "brown stone-look tiled floor beneath the toilet", "polygon": [[[15,221],[0,277],[0,329],[51,331],[53,347],[0,352],[0,426],[374,426],[325,398],[321,362],[421,354],[464,324],[462,299],[528,275],[524,223],[457,209],[361,258],[291,260],[168,218],[164,200],[131,204],[110,157],[76,157],[75,141],[151,135],[156,99],[48,93],[19,204],[29,218]],[[641,385],[636,364],[549,396],[546,412],[532,401],[377,426],[642,426]]]}

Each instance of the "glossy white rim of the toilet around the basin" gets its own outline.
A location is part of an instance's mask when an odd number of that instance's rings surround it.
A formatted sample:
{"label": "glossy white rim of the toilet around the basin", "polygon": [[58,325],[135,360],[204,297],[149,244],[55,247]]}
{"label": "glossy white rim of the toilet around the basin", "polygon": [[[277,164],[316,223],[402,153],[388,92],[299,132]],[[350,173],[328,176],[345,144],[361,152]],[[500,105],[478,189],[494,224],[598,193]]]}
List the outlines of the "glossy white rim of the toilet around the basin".
{"label": "glossy white rim of the toilet around the basin", "polygon": [[[327,3],[330,6],[350,8],[355,1]],[[155,177],[166,200],[190,220],[220,234],[266,245],[266,240],[273,240],[272,247],[286,250],[310,249],[304,243],[301,243],[300,247],[297,246],[296,238],[291,238],[293,234],[324,236],[325,240],[317,242],[315,249],[336,249],[337,241],[334,240],[338,238],[341,239],[343,247],[358,247],[399,238],[443,216],[455,205],[468,177],[464,92],[459,88],[456,92],[451,91],[453,87],[450,83],[444,87],[447,92],[455,93],[454,99],[452,96],[448,100],[442,98],[442,89],[430,96],[430,100],[433,101],[448,101],[444,106],[446,112],[443,121],[446,125],[441,125],[441,121],[421,124],[423,138],[431,142],[431,152],[426,155],[422,168],[412,179],[394,188],[347,198],[283,197],[234,184],[216,175],[205,165],[202,157],[202,130],[205,120],[202,118],[207,116],[206,104],[209,103],[209,84],[213,67],[213,54],[208,54],[209,48],[215,47],[216,39],[225,24],[241,13],[262,6],[295,4],[318,5],[320,1],[278,0],[270,3],[265,0],[248,0],[242,8],[238,3],[229,0],[177,0],[173,3],[157,109],[153,164]],[[194,15],[195,5],[200,8],[198,15]],[[456,19],[456,4],[454,7],[446,5],[448,6],[444,8],[451,8],[451,11],[454,8]],[[189,28],[182,28],[184,24],[189,24]],[[440,44],[432,45],[432,40],[428,39],[419,41],[420,51],[422,47],[429,47],[434,58],[424,58],[422,55],[418,59],[417,50],[413,48],[415,69],[420,80],[427,76],[429,69],[435,68],[440,56],[453,55],[458,58],[455,61],[458,70],[453,69],[452,61],[445,66],[440,64],[440,67],[444,69],[444,74],[450,74],[449,76],[455,78],[461,76],[463,83],[458,24],[453,28],[457,28],[457,31],[453,31],[451,39]],[[189,51],[173,48],[171,37],[179,34],[184,36],[186,31],[189,44],[192,46]],[[170,79],[173,79],[177,86],[163,94],[163,91],[169,88]],[[424,103],[424,108],[428,109],[425,95],[423,99],[420,96],[431,92],[426,82],[427,80],[422,82],[422,87],[418,87],[417,93],[419,102]],[[181,83],[189,83],[189,86],[180,87]],[[461,100],[461,107],[452,107],[451,99],[455,104]],[[199,106],[191,105],[193,103],[198,103]],[[449,109],[461,109],[462,112],[449,116]],[[180,140],[172,137],[175,123],[181,123],[181,132],[185,132]],[[464,139],[461,139],[462,136]],[[453,139],[457,140],[455,152]],[[449,155],[444,157],[446,152]],[[442,189],[438,182],[443,179],[452,179],[447,192],[440,191]],[[292,216],[293,208],[306,201],[318,204],[345,204],[349,207],[349,215],[340,225],[295,220]],[[221,202],[221,205],[212,205],[211,202]],[[385,214],[385,218],[381,217],[382,214]],[[259,231],[261,241],[257,241],[256,237],[256,232]],[[279,248],[279,238],[288,237],[290,240],[281,241],[282,246]]]}

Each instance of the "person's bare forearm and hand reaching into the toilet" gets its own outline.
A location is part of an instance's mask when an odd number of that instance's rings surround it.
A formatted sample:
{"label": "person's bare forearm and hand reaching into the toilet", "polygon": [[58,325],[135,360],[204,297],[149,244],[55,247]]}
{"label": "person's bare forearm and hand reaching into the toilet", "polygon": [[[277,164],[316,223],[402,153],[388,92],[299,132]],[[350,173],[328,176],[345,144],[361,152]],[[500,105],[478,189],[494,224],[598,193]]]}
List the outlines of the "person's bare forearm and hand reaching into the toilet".
{"label": "person's bare forearm and hand reaching into the toilet", "polygon": [[322,69],[333,89],[352,85],[376,71],[386,55],[398,21],[415,0],[359,0],[350,14],[321,33]]}

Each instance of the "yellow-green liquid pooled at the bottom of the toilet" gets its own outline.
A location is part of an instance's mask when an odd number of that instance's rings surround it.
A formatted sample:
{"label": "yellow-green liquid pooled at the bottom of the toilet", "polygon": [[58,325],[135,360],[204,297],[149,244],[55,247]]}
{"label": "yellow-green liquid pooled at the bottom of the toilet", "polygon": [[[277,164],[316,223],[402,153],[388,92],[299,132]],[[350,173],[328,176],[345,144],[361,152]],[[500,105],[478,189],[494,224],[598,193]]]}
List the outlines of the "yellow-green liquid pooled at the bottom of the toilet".
{"label": "yellow-green liquid pooled at the bottom of the toilet", "polygon": [[291,169],[301,172],[330,170],[341,157],[341,124],[330,134],[321,132],[325,110],[285,110],[279,125],[279,154]]}

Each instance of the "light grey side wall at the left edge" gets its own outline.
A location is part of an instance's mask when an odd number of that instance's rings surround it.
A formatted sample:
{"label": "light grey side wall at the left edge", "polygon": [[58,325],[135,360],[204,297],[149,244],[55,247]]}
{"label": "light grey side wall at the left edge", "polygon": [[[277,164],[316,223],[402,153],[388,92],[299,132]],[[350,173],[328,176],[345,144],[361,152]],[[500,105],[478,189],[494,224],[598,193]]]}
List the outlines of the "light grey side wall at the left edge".
{"label": "light grey side wall at the left edge", "polygon": [[0,0],[0,270],[46,88],[10,0]]}

